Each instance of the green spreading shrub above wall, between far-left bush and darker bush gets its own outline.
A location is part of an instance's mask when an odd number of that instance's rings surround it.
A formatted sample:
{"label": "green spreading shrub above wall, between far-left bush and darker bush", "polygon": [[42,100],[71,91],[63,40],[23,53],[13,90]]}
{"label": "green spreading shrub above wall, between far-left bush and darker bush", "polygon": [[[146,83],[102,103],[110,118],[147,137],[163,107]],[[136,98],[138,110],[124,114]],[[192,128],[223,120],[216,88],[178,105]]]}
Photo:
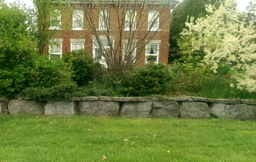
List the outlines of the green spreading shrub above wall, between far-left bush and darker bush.
{"label": "green spreading shrub above wall, between far-left bush and darker bush", "polygon": [[72,96],[76,91],[76,82],[72,80],[73,71],[67,63],[57,59],[49,60],[43,55],[36,59],[35,66],[30,70],[30,88],[26,88],[23,94],[33,99],[52,99],[63,97],[65,99]]}

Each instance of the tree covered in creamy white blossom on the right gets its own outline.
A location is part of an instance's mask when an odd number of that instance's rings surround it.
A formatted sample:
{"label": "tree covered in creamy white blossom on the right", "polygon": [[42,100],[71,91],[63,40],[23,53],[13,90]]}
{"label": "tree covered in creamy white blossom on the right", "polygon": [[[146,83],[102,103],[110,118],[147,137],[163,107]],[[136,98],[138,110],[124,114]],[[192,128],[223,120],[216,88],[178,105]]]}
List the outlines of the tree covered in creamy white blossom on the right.
{"label": "tree covered in creamy white blossom on the right", "polygon": [[[231,65],[237,71],[237,88],[256,91],[256,38],[255,26],[239,20],[235,0],[225,0],[216,9],[206,5],[206,17],[194,17],[186,22],[188,29],[180,33],[192,36],[192,51],[204,51],[204,63],[211,65],[214,73],[221,63]],[[230,86],[233,86],[231,84]]]}

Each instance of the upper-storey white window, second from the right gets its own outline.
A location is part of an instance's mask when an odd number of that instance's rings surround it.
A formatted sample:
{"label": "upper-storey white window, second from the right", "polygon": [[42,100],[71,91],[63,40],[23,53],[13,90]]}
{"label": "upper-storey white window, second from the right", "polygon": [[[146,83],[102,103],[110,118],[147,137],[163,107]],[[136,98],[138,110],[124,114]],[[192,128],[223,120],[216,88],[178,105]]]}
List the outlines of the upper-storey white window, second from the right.
{"label": "upper-storey white window, second from the right", "polygon": [[129,10],[125,14],[125,30],[134,31],[136,29],[137,11]]}

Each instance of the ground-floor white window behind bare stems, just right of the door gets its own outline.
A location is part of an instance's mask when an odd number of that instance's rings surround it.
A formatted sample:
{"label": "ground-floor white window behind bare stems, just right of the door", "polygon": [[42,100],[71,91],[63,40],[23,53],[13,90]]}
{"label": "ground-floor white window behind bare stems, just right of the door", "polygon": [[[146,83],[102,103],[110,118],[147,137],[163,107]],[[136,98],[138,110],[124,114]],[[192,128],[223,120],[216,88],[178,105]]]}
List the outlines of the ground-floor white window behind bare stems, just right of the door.
{"label": "ground-floor white window behind bare stems, just right of the door", "polygon": [[136,44],[135,43],[124,43],[123,44],[123,59],[125,62],[135,62],[136,57]]}

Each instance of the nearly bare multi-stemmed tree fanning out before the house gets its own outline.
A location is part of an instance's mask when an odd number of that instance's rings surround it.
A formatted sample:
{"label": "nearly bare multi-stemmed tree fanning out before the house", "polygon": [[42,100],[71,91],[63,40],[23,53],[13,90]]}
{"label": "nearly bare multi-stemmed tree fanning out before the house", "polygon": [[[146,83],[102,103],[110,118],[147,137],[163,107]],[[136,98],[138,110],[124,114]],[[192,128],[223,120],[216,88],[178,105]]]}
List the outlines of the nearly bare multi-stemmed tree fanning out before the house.
{"label": "nearly bare multi-stemmed tree fanning out before the house", "polygon": [[[93,35],[95,57],[102,58],[109,70],[120,73],[132,69],[146,44],[163,26],[169,26],[166,21],[177,1],[81,0],[80,3],[75,9],[84,11],[84,31],[88,37]],[[101,35],[105,35],[106,42]]]}

